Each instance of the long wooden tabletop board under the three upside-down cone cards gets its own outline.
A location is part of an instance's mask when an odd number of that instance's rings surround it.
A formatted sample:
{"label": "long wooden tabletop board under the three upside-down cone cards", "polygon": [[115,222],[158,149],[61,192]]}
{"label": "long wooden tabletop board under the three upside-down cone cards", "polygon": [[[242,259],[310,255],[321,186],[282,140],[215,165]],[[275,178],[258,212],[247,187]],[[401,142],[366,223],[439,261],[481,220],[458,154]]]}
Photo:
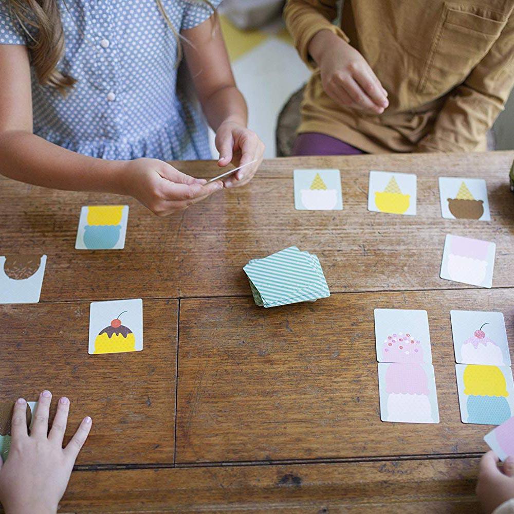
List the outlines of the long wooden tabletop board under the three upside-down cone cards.
{"label": "long wooden tabletop board under the three upside-down cone cards", "polygon": [[[44,302],[118,298],[113,274],[130,281],[135,298],[247,296],[243,266],[293,244],[318,254],[332,292],[467,287],[439,278],[447,233],[495,242],[493,286],[511,287],[512,159],[514,152],[273,159],[249,186],[166,218],[131,199],[49,191],[0,178],[0,247],[5,253],[48,255]],[[195,176],[217,171],[212,162],[175,164]],[[295,168],[339,168],[344,210],[296,211]],[[377,169],[417,174],[417,216],[367,210],[369,171]],[[491,222],[443,219],[439,176],[485,178]],[[80,207],[120,202],[130,205],[125,249],[76,251]]]}

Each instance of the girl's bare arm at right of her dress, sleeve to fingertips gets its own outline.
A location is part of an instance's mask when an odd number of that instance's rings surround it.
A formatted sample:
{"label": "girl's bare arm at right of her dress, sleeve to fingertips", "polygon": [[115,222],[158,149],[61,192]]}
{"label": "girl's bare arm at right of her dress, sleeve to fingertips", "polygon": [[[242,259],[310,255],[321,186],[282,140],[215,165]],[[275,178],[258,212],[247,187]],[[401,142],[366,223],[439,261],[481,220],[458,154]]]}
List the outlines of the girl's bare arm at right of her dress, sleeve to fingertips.
{"label": "girl's bare arm at right of her dress, sleeve to fingertips", "polygon": [[223,41],[221,28],[215,17],[197,27],[184,30],[182,35],[186,62],[193,77],[198,98],[207,120],[216,131],[218,165],[242,166],[257,159],[225,181],[226,187],[241,186],[251,180],[259,168],[264,144],[246,128],[246,102],[237,89]]}

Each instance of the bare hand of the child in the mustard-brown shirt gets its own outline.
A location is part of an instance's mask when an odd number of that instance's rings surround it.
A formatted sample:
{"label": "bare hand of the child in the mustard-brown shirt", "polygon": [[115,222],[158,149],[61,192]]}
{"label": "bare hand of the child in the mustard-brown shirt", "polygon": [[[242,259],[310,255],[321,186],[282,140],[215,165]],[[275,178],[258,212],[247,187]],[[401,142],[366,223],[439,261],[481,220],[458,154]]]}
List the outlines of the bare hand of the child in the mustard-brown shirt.
{"label": "bare hand of the child in the mustard-brown shirt", "polygon": [[382,114],[387,91],[370,65],[351,45],[329,30],[320,30],[309,44],[318,63],[325,93],[340,105]]}

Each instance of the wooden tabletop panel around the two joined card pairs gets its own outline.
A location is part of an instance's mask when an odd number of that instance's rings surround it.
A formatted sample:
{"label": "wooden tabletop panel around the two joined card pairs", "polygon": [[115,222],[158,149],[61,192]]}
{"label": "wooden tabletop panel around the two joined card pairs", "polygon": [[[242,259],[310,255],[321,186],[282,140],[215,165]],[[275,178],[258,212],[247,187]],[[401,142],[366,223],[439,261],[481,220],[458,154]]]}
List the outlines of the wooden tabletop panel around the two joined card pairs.
{"label": "wooden tabletop panel around the two joined card pairs", "polygon": [[[375,308],[428,311],[438,425],[380,421]],[[177,462],[485,451],[489,427],[461,423],[450,309],[503,312],[512,349],[512,289],[182,300]]]}

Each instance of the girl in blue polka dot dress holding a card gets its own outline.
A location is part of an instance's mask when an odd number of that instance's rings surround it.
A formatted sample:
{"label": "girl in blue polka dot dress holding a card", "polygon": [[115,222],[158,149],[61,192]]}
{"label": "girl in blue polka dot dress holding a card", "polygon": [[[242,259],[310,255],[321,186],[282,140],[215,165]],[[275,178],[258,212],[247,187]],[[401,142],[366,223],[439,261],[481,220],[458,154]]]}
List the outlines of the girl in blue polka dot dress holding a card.
{"label": "girl in blue polka dot dress holding a card", "polygon": [[[0,0],[0,173],[131,195],[158,215],[248,182],[264,145],[246,127],[219,3]],[[164,162],[211,157],[204,116],[220,167],[255,160],[225,183]]]}

